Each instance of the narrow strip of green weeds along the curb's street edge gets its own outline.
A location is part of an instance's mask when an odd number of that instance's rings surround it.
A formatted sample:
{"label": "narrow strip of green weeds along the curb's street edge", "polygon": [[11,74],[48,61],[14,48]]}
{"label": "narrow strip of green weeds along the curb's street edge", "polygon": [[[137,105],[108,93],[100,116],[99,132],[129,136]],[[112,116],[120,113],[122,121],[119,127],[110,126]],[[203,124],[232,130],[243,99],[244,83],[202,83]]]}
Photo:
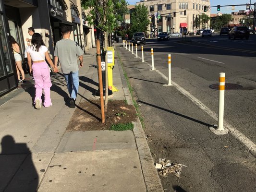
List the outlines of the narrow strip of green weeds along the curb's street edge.
{"label": "narrow strip of green weeds along the curb's street edge", "polygon": [[[135,109],[136,109],[136,111],[137,111],[136,116],[138,116],[138,118],[139,118],[139,120],[140,120],[140,122],[141,122],[141,125],[142,125],[142,127],[143,127],[143,129],[144,129],[144,128],[145,128],[144,119],[143,119],[143,117],[142,117],[142,115],[141,115],[141,113],[140,113],[140,111],[139,111],[139,106],[138,106],[137,102],[136,102],[135,99],[134,99],[134,95],[133,95],[133,94],[134,94],[134,89],[133,89],[133,87],[132,87],[131,84],[130,84],[130,81],[129,81],[129,78],[128,78],[126,72],[124,71],[124,67],[123,67],[122,60],[121,60],[121,58],[120,58],[119,52],[116,51],[116,54],[117,54],[117,57],[118,57],[118,59],[119,59],[119,61],[120,61],[121,66],[122,66],[122,71],[123,71],[124,77],[125,77],[125,79],[126,79],[126,82],[127,82],[127,85],[128,85],[128,89],[129,89],[130,94],[131,94],[131,96],[132,96],[132,100],[133,100],[134,107],[135,107]],[[127,102],[127,101],[126,101],[126,102]]]}

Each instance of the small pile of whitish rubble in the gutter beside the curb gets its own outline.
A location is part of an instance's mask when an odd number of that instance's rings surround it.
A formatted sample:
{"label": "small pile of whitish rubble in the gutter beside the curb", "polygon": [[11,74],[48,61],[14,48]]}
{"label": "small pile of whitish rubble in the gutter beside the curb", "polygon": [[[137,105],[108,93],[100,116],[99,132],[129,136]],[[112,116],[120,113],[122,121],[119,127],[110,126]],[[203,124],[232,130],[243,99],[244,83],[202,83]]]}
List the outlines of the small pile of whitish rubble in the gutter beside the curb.
{"label": "small pile of whitish rubble in the gutter beside the curb", "polygon": [[156,163],[155,166],[158,169],[158,174],[166,177],[170,173],[174,173],[178,178],[180,177],[180,174],[182,172],[183,167],[187,167],[183,164],[177,164],[177,163],[171,163],[170,160],[165,160],[162,158],[159,158],[159,164]]}

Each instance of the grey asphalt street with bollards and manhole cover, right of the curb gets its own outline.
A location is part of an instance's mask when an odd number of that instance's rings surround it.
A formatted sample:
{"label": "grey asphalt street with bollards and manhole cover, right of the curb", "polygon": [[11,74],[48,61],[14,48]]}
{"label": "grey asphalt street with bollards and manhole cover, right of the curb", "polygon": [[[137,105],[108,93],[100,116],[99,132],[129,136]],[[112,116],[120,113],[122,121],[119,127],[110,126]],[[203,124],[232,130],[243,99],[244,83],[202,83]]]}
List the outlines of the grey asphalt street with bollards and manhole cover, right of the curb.
{"label": "grey asphalt street with bollards and manhole cover, right of the curb", "polygon": [[[184,39],[185,37],[183,37]],[[118,47],[120,60],[144,118],[145,134],[156,163],[159,158],[180,163],[180,178],[160,177],[165,192],[256,191],[256,36],[147,39],[144,60]],[[154,48],[151,69],[150,49]],[[135,48],[134,48],[135,52]],[[171,54],[172,86],[168,83]],[[219,73],[225,72],[224,127],[217,135]]]}

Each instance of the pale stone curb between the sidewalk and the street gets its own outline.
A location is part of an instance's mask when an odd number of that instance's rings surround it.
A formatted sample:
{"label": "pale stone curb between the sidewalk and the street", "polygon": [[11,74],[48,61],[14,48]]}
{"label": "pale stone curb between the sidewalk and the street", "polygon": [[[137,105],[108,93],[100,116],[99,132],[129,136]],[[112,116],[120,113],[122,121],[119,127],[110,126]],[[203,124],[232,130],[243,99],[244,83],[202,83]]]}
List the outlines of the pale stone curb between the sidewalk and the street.
{"label": "pale stone curb between the sidewalk and the street", "polygon": [[[115,47],[115,51],[117,51],[116,46],[114,47]],[[129,91],[126,79],[124,77],[122,66],[120,66],[120,60],[118,57],[116,58],[117,58],[116,61],[118,63],[119,71],[121,74],[124,96],[127,100],[127,103],[129,105],[133,105],[133,99]],[[134,124],[133,132],[134,132],[135,142],[136,142],[136,146],[137,146],[137,150],[140,158],[142,174],[143,174],[145,185],[146,185],[146,191],[147,192],[164,192],[161,181],[158,176],[158,172],[154,166],[154,160],[153,160],[153,157],[151,156],[151,152],[146,141],[146,136],[144,134],[139,118],[137,118],[137,120],[133,122],[133,124]]]}

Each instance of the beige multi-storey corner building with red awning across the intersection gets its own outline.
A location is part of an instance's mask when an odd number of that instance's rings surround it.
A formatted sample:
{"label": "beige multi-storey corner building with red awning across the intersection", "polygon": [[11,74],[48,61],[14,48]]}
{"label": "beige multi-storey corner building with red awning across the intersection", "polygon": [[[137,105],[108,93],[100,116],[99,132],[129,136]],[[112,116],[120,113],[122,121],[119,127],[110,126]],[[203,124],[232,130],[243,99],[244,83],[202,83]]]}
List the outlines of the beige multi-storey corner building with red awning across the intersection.
{"label": "beige multi-storey corner building with red awning across the intersection", "polygon": [[[210,0],[141,0],[136,5],[144,4],[148,9],[150,33],[181,32],[186,27],[187,32],[194,32],[202,26],[196,26],[195,20],[202,13],[210,17],[210,9],[204,12],[204,6],[210,6]],[[205,28],[209,28],[208,22]]]}

